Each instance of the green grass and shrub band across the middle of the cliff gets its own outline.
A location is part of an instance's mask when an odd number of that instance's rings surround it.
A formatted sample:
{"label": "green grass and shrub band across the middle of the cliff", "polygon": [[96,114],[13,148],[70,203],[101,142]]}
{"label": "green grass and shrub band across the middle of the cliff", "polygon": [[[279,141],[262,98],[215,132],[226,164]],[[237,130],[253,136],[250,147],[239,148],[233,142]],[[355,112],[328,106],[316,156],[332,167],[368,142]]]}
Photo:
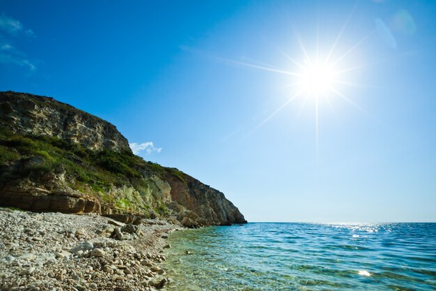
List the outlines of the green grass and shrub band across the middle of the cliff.
{"label": "green grass and shrub band across the middle of the cliff", "polygon": [[133,181],[141,183],[138,178],[143,177],[146,170],[161,178],[178,177],[186,184],[185,173],[180,170],[146,162],[128,151],[91,151],[58,137],[24,136],[0,128],[0,168],[32,156],[45,160],[32,170],[43,174],[63,168],[71,188],[86,192],[86,187],[91,187],[107,202],[113,200],[104,193],[111,186],[130,186]]}

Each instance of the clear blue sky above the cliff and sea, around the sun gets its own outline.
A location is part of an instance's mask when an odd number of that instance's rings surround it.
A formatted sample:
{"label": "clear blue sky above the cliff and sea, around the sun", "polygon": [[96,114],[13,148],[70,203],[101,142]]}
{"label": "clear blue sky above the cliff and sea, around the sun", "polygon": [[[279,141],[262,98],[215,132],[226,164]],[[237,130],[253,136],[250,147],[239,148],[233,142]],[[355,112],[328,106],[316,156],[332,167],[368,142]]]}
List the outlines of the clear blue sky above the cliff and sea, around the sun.
{"label": "clear blue sky above the cliff and sea, around the sun", "polygon": [[[434,15],[434,1],[0,0],[0,90],[110,121],[249,221],[436,221]],[[314,97],[295,83],[317,55],[340,82]]]}

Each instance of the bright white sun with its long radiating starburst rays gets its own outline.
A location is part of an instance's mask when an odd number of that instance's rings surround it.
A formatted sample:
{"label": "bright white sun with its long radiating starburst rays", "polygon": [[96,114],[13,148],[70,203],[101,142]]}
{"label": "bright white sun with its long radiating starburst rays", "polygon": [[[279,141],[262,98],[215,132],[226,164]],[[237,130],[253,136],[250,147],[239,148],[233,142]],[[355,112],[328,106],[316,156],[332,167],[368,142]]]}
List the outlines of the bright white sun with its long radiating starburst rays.
{"label": "bright white sun with its long radiating starburst rays", "polygon": [[[309,103],[313,105],[313,111],[315,112],[316,144],[318,147],[320,107],[328,104],[331,107],[332,112],[335,114],[333,104],[330,101],[331,98],[338,97],[366,113],[362,107],[357,105],[352,99],[343,94],[342,90],[345,86],[361,86],[359,83],[348,81],[348,73],[350,73],[352,70],[362,68],[364,64],[361,64],[360,66],[349,66],[345,64],[345,60],[349,58],[351,53],[355,51],[357,47],[364,42],[364,40],[371,36],[373,32],[368,33],[368,35],[364,36],[364,38],[361,38],[361,40],[359,40],[355,45],[350,46],[350,48],[345,50],[345,52],[337,54],[336,49],[339,40],[341,39],[341,36],[343,36],[347,25],[348,22],[338,33],[338,36],[336,36],[332,47],[325,51],[320,51],[318,35],[316,38],[316,50],[307,50],[302,43],[302,40],[299,38],[299,33],[295,30],[295,28],[293,28],[295,37],[297,39],[297,44],[302,50],[302,55],[300,56],[302,57],[303,61],[297,61],[297,59],[294,59],[291,57],[291,55],[287,54],[286,52],[282,52],[279,48],[277,48],[277,51],[294,65],[293,70],[268,66],[265,64],[249,64],[242,61],[225,59],[225,61],[229,61],[240,66],[265,70],[267,72],[287,75],[289,77],[290,84],[286,84],[285,86],[281,87],[282,89],[289,89],[291,87],[293,88],[292,91],[290,91],[288,99],[282,105],[280,105],[277,110],[274,110],[269,116],[263,119],[263,121],[261,121],[256,128],[254,128],[254,130],[272,119],[274,115],[283,110],[284,107],[292,103],[295,99],[302,100],[297,113],[298,116],[299,112],[302,112],[303,107],[306,105],[306,103],[308,103],[306,101],[309,100]],[[315,54],[311,55],[308,52],[314,52]],[[254,130],[252,132],[254,132]]]}

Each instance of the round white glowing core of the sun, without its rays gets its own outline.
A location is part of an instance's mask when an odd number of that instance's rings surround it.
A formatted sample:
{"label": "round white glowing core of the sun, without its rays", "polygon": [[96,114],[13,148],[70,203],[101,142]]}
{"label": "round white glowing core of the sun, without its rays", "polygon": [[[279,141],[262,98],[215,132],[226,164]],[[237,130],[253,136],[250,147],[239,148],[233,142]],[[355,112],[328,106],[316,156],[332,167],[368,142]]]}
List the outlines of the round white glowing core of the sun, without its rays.
{"label": "round white glowing core of the sun, without its rays", "polygon": [[334,85],[336,72],[327,64],[309,64],[299,73],[299,85],[307,94],[326,94]]}

